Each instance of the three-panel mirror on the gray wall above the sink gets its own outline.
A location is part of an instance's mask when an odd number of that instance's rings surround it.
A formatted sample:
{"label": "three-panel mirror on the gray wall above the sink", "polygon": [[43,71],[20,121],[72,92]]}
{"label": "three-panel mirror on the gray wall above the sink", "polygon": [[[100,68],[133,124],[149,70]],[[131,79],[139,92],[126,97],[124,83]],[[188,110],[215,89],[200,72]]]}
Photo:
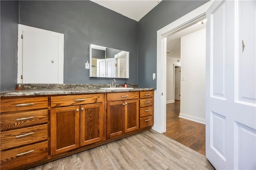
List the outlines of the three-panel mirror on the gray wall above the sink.
{"label": "three-panel mirror on the gray wall above the sink", "polygon": [[129,78],[129,52],[90,44],[90,77]]}

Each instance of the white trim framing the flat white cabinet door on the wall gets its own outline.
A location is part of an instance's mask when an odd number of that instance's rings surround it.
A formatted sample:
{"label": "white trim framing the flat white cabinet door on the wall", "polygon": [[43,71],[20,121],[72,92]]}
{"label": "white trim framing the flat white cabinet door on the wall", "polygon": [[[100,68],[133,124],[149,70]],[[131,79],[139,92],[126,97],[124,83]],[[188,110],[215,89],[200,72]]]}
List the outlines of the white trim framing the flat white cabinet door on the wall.
{"label": "white trim framing the flat white cabinet door on the wall", "polygon": [[58,37],[59,47],[58,47],[58,84],[63,84],[64,81],[64,34],[58,32],[52,32],[48,30],[43,30],[40,28],[34,28],[30,26],[25,26],[22,24],[18,24],[18,72],[17,72],[17,83],[21,82],[20,75],[23,74],[23,40],[21,39],[21,35],[23,31],[30,31],[30,32],[38,32],[47,34],[50,36]]}

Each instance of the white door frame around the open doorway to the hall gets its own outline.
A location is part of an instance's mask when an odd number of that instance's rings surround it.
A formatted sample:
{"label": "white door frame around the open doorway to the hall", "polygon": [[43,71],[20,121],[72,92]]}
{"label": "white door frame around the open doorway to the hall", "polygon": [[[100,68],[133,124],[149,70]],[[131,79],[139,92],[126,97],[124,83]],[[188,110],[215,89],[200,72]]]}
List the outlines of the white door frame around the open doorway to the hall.
{"label": "white door frame around the open doorway to the hall", "polygon": [[159,133],[166,132],[166,37],[206,18],[206,10],[213,1],[210,0],[157,31],[156,73],[158,78],[156,79],[156,90],[154,92],[154,101],[156,102],[154,102],[155,114],[152,129]]}

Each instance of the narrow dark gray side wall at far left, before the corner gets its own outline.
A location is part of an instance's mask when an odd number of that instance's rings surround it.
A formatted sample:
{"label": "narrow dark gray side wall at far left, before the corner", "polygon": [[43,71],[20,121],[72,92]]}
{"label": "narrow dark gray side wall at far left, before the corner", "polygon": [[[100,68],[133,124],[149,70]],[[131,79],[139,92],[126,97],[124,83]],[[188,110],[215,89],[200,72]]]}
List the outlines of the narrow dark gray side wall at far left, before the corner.
{"label": "narrow dark gray side wall at far left, before the corner", "polygon": [[14,90],[17,83],[18,1],[0,1],[0,86],[1,91]]}

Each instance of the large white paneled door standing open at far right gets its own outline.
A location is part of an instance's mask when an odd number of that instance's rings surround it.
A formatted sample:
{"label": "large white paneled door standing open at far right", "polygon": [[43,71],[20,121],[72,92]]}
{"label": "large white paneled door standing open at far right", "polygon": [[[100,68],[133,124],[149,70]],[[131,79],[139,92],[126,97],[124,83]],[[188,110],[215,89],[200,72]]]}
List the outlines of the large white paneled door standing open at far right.
{"label": "large white paneled door standing open at far right", "polygon": [[206,157],[256,169],[256,1],[215,1],[206,16]]}

